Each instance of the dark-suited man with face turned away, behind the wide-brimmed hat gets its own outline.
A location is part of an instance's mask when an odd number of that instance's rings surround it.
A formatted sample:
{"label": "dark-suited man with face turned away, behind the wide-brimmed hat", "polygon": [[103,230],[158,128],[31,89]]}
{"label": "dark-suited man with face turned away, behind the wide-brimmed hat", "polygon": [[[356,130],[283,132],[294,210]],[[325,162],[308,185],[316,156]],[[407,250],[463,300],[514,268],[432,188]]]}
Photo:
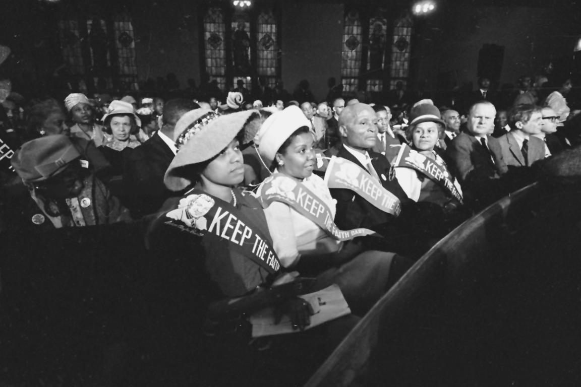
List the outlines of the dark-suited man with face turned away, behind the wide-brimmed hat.
{"label": "dark-suited man with face turned away, behind the wide-brimmed hat", "polygon": [[171,99],[163,109],[162,128],[142,146],[124,154],[123,185],[127,202],[134,218],[152,214],[171,196],[179,196],[166,188],[163,176],[173,160],[175,147],[174,128],[180,117],[198,104],[188,99]]}

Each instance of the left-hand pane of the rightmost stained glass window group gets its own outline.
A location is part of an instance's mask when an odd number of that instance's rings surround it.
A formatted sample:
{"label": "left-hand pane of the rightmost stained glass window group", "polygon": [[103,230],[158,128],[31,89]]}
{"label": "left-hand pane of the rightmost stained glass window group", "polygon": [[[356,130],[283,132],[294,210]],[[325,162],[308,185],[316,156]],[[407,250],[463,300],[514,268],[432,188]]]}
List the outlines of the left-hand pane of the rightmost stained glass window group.
{"label": "left-hand pane of the rightmost stained glass window group", "polygon": [[341,79],[343,91],[355,92],[358,86],[358,75],[361,69],[361,19],[359,13],[352,11],[345,16],[343,30],[343,58],[341,62]]}

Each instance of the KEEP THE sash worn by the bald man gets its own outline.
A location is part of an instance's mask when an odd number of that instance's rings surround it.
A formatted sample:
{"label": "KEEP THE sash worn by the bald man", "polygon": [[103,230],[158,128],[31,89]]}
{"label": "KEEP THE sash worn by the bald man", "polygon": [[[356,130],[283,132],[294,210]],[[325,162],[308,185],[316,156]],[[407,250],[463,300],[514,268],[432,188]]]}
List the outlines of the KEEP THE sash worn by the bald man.
{"label": "KEEP THE sash worn by the bald man", "polygon": [[[386,179],[385,175],[381,175]],[[331,157],[325,183],[329,188],[352,190],[383,212],[398,216],[401,204],[397,196],[386,190],[369,172],[343,157]]]}

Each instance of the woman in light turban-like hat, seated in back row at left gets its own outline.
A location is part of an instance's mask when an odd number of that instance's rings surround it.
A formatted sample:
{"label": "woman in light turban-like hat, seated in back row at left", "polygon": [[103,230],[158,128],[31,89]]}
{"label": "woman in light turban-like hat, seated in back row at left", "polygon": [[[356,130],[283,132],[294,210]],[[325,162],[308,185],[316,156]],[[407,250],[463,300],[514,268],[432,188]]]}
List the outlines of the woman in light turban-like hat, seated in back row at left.
{"label": "woman in light turban-like hat, seated in back row at left", "polygon": [[103,128],[95,124],[95,112],[89,99],[82,93],[71,93],[64,99],[64,107],[69,111],[71,137],[79,137],[92,141],[95,146],[103,144]]}

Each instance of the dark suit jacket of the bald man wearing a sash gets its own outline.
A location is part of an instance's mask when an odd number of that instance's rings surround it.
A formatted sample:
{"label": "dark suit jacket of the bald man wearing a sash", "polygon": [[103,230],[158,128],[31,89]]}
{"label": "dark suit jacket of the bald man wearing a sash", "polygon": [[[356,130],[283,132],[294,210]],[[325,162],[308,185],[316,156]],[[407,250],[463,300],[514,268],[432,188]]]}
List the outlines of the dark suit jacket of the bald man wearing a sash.
{"label": "dark suit jacket of the bald man wearing a sash", "polygon": [[[380,176],[383,187],[397,196],[402,206],[407,204],[409,200],[397,179],[394,178],[392,181],[387,178],[383,179],[383,176],[389,176],[390,164],[386,158],[381,153],[374,151],[369,151],[369,155],[371,164],[374,166],[378,176]],[[367,170],[343,145],[340,146],[337,157],[343,157],[359,165],[365,171]],[[337,200],[335,223],[340,229],[349,230],[356,227],[365,227],[384,236],[391,236],[391,233],[388,232],[388,227],[396,219],[395,216],[379,211],[374,205],[352,190],[331,189],[331,196]]]}

